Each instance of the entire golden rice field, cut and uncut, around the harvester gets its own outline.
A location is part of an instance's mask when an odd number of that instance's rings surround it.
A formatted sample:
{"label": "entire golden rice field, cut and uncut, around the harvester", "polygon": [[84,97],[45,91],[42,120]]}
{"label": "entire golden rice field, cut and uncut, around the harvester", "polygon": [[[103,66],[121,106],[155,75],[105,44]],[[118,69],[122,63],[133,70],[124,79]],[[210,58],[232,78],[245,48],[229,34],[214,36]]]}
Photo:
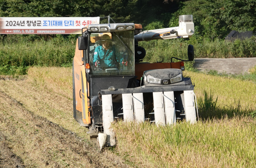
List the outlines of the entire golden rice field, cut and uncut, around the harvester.
{"label": "entire golden rice field, cut and uncut, around the harvester", "polygon": [[[184,74],[190,76],[195,83],[198,122],[193,125],[180,122],[165,127],[150,123],[116,122],[112,126],[116,132],[117,145],[104,148],[108,159],[118,157],[126,167],[138,168],[256,167],[256,84],[227,76],[190,71],[185,71]],[[73,119],[71,67],[30,67],[28,74],[19,79],[6,76],[2,78],[4,80],[0,80],[0,91],[16,100],[25,111],[44,117],[88,142],[88,130]],[[8,105],[8,102],[1,105]],[[48,137],[47,131],[46,136],[44,129],[29,120],[26,121],[26,117],[22,117],[22,120],[19,117],[16,123],[16,109],[8,107],[12,110],[12,115],[6,111],[6,107],[1,106],[1,109],[0,132],[6,137],[5,144],[21,159],[23,165],[86,167],[79,163],[79,159],[72,163],[67,156],[80,158],[82,155],[73,155],[68,146],[62,146],[61,150],[55,147],[46,148],[51,140],[40,137]],[[5,122],[6,119],[8,123]],[[27,134],[26,130],[37,132]],[[22,143],[18,143],[21,142],[19,135],[25,136]],[[27,143],[33,139],[38,141],[33,141],[31,145]],[[65,139],[60,139],[60,142],[62,145],[68,144]],[[39,144],[42,146],[34,146]],[[44,158],[40,150],[48,153],[49,164],[45,164],[42,159],[38,160]],[[40,165],[40,162],[44,164]]]}

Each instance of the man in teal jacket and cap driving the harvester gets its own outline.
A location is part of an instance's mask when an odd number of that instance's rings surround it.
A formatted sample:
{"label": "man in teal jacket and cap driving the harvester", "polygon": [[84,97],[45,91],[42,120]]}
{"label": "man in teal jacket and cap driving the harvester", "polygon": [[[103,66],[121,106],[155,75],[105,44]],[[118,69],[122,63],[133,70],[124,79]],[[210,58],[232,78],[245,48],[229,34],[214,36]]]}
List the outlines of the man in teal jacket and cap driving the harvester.
{"label": "man in teal jacket and cap driving the harvester", "polygon": [[123,61],[118,55],[109,35],[102,35],[101,43],[102,45],[96,47],[93,57],[93,63],[97,68],[118,68],[119,64],[127,66],[127,61]]}

